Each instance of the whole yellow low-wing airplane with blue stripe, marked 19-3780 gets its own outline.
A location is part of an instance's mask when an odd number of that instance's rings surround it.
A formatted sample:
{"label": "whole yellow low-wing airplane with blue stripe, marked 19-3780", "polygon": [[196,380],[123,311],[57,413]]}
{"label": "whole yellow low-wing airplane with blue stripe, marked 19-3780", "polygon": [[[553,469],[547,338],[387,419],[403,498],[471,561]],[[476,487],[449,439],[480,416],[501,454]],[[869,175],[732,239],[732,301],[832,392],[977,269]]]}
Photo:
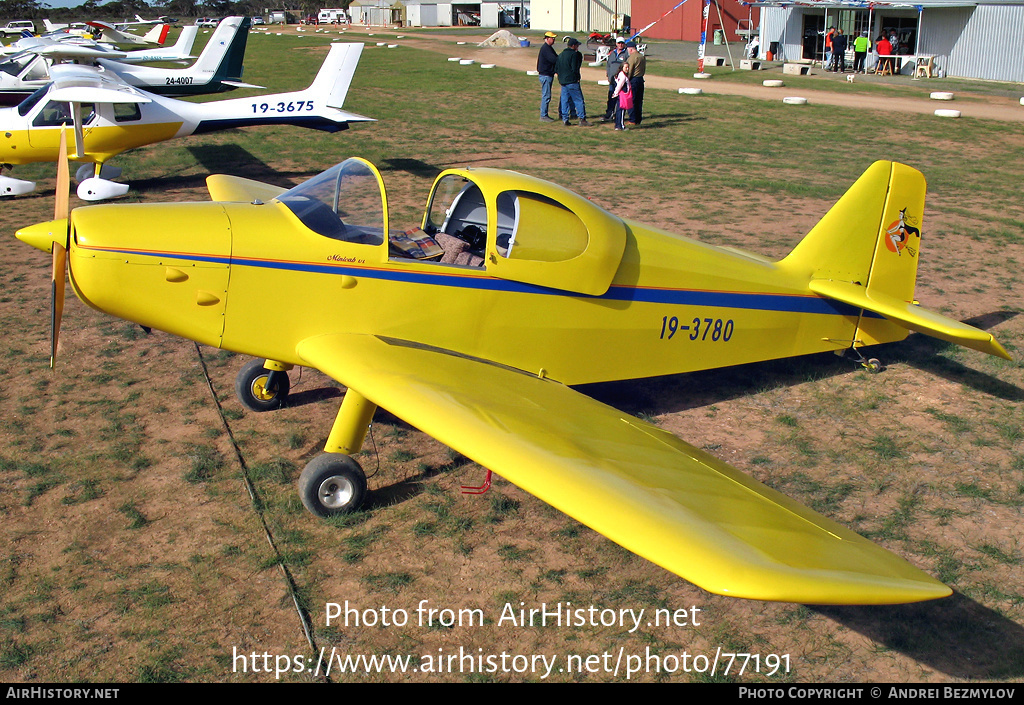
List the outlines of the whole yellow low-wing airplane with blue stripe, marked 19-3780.
{"label": "whole yellow low-wing airplane with blue stripe, marked 19-3780", "polygon": [[335,378],[347,387],[341,409],[298,481],[314,514],[362,503],[352,455],[379,405],[712,592],[808,604],[950,593],[569,386],[860,357],[911,330],[1009,358],[989,333],[913,302],[925,204],[914,169],[871,165],[779,261],[498,169],[442,172],[414,231],[391,224],[381,175],[360,159],[289,191],[223,175],[207,183],[210,203],[102,205],[70,218],[58,205],[53,221],[17,233],[53,253],[51,355],[67,256],[90,306],[258,358],[236,384],[250,409],[279,406],[295,366]]}

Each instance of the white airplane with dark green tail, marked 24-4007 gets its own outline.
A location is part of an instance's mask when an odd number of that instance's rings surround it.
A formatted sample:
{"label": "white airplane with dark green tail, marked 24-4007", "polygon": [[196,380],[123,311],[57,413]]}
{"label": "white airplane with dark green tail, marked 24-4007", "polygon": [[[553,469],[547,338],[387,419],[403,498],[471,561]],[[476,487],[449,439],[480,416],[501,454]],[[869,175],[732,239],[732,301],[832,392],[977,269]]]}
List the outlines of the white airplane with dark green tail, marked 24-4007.
{"label": "white airplane with dark green tail, marked 24-4007", "polygon": [[232,88],[262,88],[242,82],[242,60],[249,39],[249,18],[228,17],[213,33],[199,59],[187,69],[130,66],[142,61],[191,58],[199,28],[185,27],[174,46],[114,51],[96,44],[36,44],[0,63],[0,106],[16,106],[50,82],[58,61],[77,61],[117,74],[125,83],[161,95],[201,95]]}

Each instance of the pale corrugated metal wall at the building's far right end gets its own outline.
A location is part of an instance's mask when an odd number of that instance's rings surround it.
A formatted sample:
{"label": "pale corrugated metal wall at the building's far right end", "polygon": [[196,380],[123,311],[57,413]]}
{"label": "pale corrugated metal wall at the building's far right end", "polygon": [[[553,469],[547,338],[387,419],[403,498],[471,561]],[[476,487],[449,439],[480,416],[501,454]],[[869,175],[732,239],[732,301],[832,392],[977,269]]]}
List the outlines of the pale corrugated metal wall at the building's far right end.
{"label": "pale corrugated metal wall at the building's far right end", "polygon": [[925,8],[921,34],[948,76],[1024,82],[1024,5]]}

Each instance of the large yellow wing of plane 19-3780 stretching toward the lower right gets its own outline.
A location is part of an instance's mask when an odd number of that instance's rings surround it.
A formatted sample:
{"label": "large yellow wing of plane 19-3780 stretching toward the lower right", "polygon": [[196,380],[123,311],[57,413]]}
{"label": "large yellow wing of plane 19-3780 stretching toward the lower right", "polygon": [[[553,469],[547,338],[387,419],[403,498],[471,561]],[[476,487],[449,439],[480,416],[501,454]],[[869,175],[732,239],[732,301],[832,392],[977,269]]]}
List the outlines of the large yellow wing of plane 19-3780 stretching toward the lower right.
{"label": "large yellow wing of plane 19-3780 stretching toward the lower right", "polygon": [[374,336],[314,337],[298,351],[438,441],[712,592],[849,605],[950,594],[835,522],[557,382]]}

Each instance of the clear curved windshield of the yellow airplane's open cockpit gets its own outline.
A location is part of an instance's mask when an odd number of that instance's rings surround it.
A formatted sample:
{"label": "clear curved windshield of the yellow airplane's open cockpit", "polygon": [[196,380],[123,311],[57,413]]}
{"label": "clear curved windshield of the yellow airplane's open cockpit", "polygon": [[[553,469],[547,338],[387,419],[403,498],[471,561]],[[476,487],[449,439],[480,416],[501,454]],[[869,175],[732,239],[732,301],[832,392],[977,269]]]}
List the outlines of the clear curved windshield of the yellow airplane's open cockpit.
{"label": "clear curved windshield of the yellow airplane's open cockpit", "polygon": [[362,245],[384,242],[384,203],[377,175],[347,159],[279,197],[302,223],[326,238]]}

